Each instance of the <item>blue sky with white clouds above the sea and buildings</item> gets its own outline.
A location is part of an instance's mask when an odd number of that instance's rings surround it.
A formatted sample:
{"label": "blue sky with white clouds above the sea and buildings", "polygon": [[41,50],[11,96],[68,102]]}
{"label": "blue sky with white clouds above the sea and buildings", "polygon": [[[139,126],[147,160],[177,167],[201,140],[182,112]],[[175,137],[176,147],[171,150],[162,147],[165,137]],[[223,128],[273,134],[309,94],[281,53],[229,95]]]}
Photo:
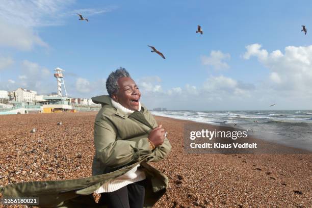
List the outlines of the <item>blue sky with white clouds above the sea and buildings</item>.
{"label": "blue sky with white clouds above the sea and buildings", "polygon": [[108,75],[124,67],[149,109],[311,110],[310,8],[311,1],[1,0],[0,90],[57,92],[60,67],[68,96],[90,98],[107,94]]}

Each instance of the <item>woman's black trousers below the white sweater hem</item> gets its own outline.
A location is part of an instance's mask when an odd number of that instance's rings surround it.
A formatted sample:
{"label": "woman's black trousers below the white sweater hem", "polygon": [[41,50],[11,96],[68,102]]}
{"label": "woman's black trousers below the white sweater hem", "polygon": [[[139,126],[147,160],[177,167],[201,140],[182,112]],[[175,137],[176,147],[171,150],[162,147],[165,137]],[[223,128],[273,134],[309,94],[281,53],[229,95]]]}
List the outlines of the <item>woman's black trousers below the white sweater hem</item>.
{"label": "woman's black trousers below the white sweater hem", "polygon": [[101,193],[99,204],[108,208],[142,208],[144,204],[146,179],[128,184],[114,192]]}

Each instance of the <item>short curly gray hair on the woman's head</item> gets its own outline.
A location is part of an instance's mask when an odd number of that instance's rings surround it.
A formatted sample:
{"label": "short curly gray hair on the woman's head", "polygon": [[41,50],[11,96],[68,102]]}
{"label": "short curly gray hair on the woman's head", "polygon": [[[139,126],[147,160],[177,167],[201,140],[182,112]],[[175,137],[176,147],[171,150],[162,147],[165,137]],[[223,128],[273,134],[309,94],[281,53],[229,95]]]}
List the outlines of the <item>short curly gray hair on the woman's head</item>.
{"label": "short curly gray hair on the woman's head", "polygon": [[106,89],[109,95],[112,97],[114,93],[119,90],[118,79],[121,77],[131,77],[129,72],[125,68],[120,67],[116,71],[112,71],[106,80]]}

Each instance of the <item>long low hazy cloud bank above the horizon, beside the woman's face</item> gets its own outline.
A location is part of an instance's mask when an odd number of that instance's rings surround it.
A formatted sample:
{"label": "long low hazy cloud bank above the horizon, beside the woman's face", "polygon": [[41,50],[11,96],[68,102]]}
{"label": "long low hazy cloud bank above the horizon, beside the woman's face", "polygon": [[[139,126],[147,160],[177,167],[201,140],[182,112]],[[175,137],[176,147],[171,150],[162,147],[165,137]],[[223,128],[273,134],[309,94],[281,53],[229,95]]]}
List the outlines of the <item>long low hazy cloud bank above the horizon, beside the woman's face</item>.
{"label": "long low hazy cloud bank above the horizon, beside the woman's face", "polygon": [[172,110],[220,110],[228,107],[229,103],[242,103],[251,99],[256,90],[253,84],[242,83],[224,75],[210,76],[198,87],[186,84],[184,87],[155,91],[153,89],[156,85],[152,83],[140,86],[142,102],[148,108],[164,107]]}

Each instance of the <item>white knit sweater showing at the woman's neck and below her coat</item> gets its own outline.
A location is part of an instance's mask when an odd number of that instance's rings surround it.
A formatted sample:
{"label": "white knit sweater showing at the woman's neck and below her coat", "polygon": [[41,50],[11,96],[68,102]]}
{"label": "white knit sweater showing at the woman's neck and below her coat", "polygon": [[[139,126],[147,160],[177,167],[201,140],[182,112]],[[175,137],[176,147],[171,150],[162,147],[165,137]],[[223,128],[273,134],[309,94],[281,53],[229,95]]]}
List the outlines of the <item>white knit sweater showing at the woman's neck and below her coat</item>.
{"label": "white knit sweater showing at the woman's neck and below her coat", "polygon": [[[112,104],[116,109],[120,109],[127,114],[132,114],[134,111],[127,109],[120,105],[120,103],[114,101],[112,99]],[[141,103],[139,102],[139,111],[141,110]],[[103,184],[100,188],[98,188],[94,193],[103,193],[103,192],[113,192],[122,187],[127,186],[128,184],[135,183],[140,180],[144,180],[146,178],[145,172],[143,170],[138,169],[140,166],[137,165],[125,174],[109,180],[107,183]]]}

